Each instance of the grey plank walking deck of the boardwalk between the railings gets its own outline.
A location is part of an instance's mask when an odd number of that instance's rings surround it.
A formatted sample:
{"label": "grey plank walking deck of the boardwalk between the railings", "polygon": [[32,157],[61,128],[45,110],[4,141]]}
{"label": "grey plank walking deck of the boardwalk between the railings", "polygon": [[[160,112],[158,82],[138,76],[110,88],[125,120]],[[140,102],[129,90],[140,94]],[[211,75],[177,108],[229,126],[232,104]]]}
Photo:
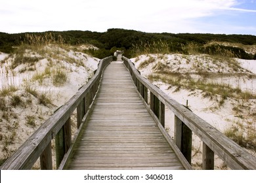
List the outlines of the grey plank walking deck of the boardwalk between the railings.
{"label": "grey plank walking deck of the boardwalk between the railings", "polygon": [[67,169],[184,169],[121,61],[104,71]]}

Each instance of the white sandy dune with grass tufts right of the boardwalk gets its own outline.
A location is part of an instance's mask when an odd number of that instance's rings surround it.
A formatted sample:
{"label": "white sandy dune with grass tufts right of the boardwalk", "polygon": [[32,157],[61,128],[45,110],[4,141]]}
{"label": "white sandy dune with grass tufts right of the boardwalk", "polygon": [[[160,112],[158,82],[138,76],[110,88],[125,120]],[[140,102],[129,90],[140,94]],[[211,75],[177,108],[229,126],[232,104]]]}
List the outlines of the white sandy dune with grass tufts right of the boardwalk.
{"label": "white sandy dune with grass tufts right of the boardwalk", "polygon": [[[139,67],[144,61],[152,58],[154,58],[152,63],[149,63],[146,67]],[[235,59],[239,67],[234,67],[234,65],[230,65],[226,61],[218,61],[207,55],[149,54],[131,60],[135,63],[135,67],[139,67],[141,75],[145,78],[152,73],[154,74],[160,71],[159,68],[162,69],[161,71],[167,68],[168,71],[173,73],[189,74],[194,78],[201,78],[200,73],[207,73],[210,76],[207,78],[208,82],[226,83],[234,88],[239,86],[242,90],[249,90],[250,92],[256,93],[256,60]],[[161,65],[160,63],[164,66],[156,67],[157,65]],[[215,77],[215,75],[222,76]],[[256,112],[256,99],[244,101],[228,97],[224,101],[224,104],[220,106],[218,102],[220,97],[218,95],[213,97],[213,99],[203,97],[204,93],[201,90],[187,90],[185,88],[179,88],[177,90],[177,87],[166,84],[161,80],[154,81],[153,84],[182,105],[186,105],[186,101],[188,101],[188,107],[196,115],[213,125],[219,131],[224,132],[225,129],[228,129],[232,125],[238,124],[242,124],[246,128],[247,123],[251,122],[255,128],[255,116],[250,116],[249,114]],[[240,107],[240,103],[242,103],[243,107]],[[234,107],[239,107],[241,114],[237,114],[233,110]],[[174,114],[167,109],[165,110],[167,129],[169,129],[169,134],[173,137]],[[202,141],[196,135],[193,135],[192,145],[192,165],[195,169],[200,169],[202,165]],[[255,152],[251,153],[255,155]],[[226,169],[223,161],[217,156],[215,158],[215,169]]]}

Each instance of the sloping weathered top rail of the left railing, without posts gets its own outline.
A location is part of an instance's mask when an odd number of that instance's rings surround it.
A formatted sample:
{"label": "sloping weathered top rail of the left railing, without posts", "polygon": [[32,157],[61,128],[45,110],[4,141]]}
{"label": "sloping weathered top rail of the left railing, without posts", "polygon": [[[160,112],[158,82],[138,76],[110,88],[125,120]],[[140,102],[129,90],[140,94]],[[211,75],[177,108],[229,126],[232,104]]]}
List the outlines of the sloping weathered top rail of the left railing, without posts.
{"label": "sloping weathered top rail of the left railing, without posts", "polygon": [[31,169],[35,161],[41,156],[45,148],[60,131],[66,120],[81,102],[81,99],[89,92],[95,84],[96,78],[100,77],[102,70],[112,61],[112,57],[102,59],[98,65],[95,75],[85,86],[83,86],[65,105],[60,107],[20,148],[7,159],[1,169]]}

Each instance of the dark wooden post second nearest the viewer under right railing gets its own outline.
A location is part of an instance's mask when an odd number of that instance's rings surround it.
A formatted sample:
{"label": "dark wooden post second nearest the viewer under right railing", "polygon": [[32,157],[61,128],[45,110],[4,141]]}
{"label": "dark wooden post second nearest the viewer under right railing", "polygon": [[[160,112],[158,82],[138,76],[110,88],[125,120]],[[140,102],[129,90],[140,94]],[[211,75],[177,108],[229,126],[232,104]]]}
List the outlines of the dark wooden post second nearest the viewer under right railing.
{"label": "dark wooden post second nearest the viewer under right railing", "polygon": [[175,115],[175,143],[191,164],[192,131]]}

